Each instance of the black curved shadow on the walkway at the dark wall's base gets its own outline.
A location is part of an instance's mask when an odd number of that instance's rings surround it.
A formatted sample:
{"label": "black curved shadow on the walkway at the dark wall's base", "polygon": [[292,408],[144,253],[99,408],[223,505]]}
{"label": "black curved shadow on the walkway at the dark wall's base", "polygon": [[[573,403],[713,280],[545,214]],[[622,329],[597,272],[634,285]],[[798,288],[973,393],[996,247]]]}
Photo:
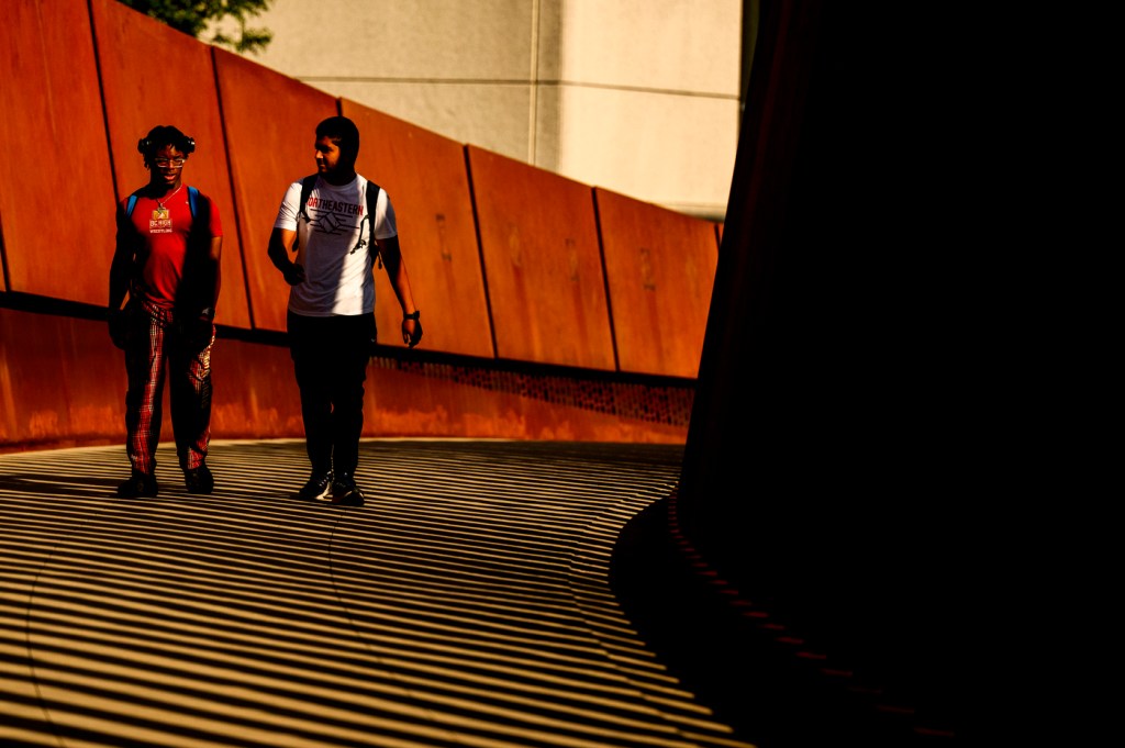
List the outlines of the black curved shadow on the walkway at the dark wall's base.
{"label": "black curved shadow on the walkway at the dark wall's base", "polygon": [[[808,620],[807,611],[783,618],[747,598],[676,537],[674,503],[657,502],[623,528],[611,584],[641,639],[739,739],[760,748],[952,745],[942,701],[950,683],[911,677],[919,665],[914,649],[932,651],[932,642],[880,640],[880,647],[902,645],[894,668],[856,657],[856,641],[886,632],[794,625]],[[878,616],[865,604],[856,627]]]}

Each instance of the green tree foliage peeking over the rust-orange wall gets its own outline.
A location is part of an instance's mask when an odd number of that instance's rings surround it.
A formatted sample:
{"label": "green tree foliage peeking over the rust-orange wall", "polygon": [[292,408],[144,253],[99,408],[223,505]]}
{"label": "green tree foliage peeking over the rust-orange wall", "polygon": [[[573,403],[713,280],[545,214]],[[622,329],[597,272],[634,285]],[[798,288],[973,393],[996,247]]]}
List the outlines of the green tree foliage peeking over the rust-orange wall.
{"label": "green tree foliage peeking over the rust-orange wall", "polygon": [[[273,33],[266,28],[250,28],[246,21],[269,9],[273,0],[119,0],[150,18],[168,24],[200,42],[217,44],[235,52],[256,54],[266,49]],[[234,21],[234,24],[230,21]],[[219,24],[218,21],[225,21]],[[235,33],[215,30],[209,37],[200,36],[208,27],[231,28]]]}

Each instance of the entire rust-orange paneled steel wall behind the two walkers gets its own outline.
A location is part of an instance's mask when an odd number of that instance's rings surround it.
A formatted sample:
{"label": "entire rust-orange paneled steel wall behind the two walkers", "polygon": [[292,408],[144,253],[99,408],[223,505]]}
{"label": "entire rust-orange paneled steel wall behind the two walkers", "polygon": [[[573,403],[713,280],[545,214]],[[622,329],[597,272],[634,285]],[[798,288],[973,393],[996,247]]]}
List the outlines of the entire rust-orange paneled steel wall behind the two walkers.
{"label": "entire rust-orange paneled steel wall behind the two walkers", "polygon": [[[122,353],[102,315],[115,202],[147,182],[137,141],[155,125],[196,139],[184,181],[216,200],[224,225],[214,436],[303,434],[288,287],[266,249],[286,187],[315,170],[316,123],[335,114],[359,124],[359,169],[394,200],[425,327],[406,350],[377,270],[382,348],[364,435],[685,440],[698,331],[662,309],[705,313],[705,295],[676,276],[691,262],[706,273],[698,241],[714,224],[614,197],[600,235],[590,186],[338,99],[116,0],[10,10],[0,450],[124,439]],[[655,307],[629,288],[638,278],[656,279]]]}

